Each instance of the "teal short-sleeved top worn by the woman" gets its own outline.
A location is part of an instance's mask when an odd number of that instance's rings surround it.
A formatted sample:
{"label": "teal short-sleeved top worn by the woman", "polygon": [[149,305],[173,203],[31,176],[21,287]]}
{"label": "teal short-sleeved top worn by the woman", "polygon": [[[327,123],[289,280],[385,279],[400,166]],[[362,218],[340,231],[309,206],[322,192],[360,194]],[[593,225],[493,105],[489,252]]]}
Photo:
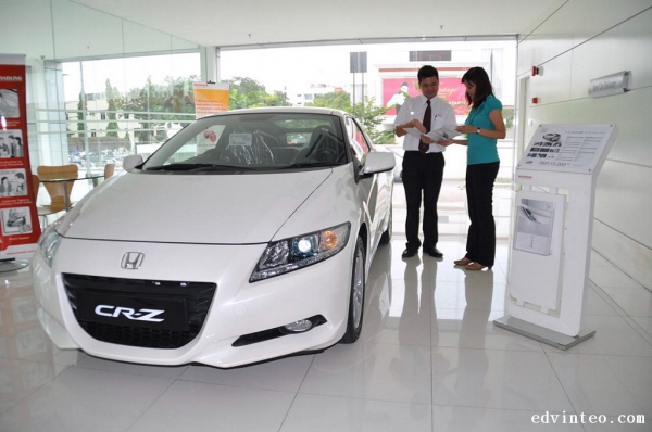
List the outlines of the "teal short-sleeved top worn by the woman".
{"label": "teal short-sleeved top worn by the woman", "polygon": [[[489,113],[493,110],[502,111],[502,103],[492,94],[489,94],[485,102],[478,107],[474,107],[466,117],[465,125],[472,125],[481,129],[496,130],[493,123],[489,118]],[[466,148],[466,163],[468,165],[489,164],[500,162],[498,158],[497,141],[493,138],[482,137],[477,134],[468,134]]]}

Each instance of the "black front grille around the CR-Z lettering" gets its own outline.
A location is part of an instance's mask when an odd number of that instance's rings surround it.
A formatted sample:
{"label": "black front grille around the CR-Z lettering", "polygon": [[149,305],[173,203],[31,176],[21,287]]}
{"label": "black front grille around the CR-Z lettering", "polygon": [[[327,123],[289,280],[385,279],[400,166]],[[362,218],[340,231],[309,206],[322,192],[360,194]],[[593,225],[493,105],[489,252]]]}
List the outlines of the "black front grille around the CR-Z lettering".
{"label": "black front grille around the CR-Z lettering", "polygon": [[[199,334],[217,288],[215,283],[206,282],[154,281],[72,274],[63,275],[63,284],[77,322],[91,338],[120,345],[161,350],[181,347]],[[77,307],[78,293],[147,298],[154,305],[156,301],[183,301],[187,330],[149,328],[141,322],[123,326],[102,322],[99,319],[83,319]]]}

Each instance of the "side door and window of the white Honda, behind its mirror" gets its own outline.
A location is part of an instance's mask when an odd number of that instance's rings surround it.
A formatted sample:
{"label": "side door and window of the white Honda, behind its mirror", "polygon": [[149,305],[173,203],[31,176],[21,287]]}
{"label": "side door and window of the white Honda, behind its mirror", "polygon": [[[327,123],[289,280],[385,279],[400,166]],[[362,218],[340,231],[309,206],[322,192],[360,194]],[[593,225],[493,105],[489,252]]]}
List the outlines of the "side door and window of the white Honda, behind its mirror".
{"label": "side door and window of the white Honda, behind its mirror", "polygon": [[[347,134],[353,150],[353,156],[360,165],[364,164],[365,156],[374,151],[369,138],[353,117],[347,117]],[[368,218],[369,244],[376,246],[383,233],[383,220],[386,218],[391,205],[391,171],[375,174],[371,178],[362,179],[359,188],[365,203],[365,212]]]}

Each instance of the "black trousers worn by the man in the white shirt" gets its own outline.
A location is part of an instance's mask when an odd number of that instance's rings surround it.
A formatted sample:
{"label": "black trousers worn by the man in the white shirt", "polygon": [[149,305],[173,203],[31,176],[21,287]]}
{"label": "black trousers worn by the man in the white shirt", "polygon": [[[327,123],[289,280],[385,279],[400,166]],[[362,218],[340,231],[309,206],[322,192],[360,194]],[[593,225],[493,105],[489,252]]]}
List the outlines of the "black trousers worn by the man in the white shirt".
{"label": "black trousers worn by the man in the white shirt", "polygon": [[408,204],[405,219],[405,236],[408,249],[417,250],[422,242],[418,238],[419,211],[422,195],[424,202],[424,242],[425,247],[435,247],[439,240],[437,229],[437,200],[443,179],[446,162],[441,153],[422,154],[418,151],[408,151],[403,156],[403,187]]}

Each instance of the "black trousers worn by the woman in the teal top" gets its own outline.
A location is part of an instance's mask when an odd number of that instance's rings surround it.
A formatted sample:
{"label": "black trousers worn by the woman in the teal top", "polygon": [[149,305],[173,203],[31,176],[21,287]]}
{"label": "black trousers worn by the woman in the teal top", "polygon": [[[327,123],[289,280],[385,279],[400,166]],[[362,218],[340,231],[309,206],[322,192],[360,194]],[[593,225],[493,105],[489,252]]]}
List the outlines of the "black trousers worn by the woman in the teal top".
{"label": "black trousers worn by the woman in the teal top", "polygon": [[468,237],[466,257],[485,266],[496,258],[496,221],[493,220],[493,182],[500,162],[466,167],[466,200],[468,202]]}

